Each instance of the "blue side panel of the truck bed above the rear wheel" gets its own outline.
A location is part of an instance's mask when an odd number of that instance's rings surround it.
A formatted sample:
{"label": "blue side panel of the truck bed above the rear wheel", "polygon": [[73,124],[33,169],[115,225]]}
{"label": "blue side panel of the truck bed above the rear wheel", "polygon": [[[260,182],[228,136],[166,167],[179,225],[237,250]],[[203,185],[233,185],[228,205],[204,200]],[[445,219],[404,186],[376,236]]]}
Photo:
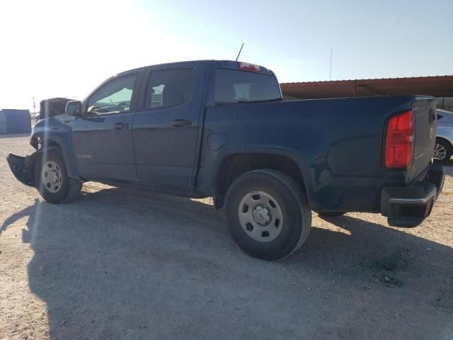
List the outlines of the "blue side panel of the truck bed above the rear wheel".
{"label": "blue side panel of the truck bed above the rear wheel", "polygon": [[[384,125],[414,100],[382,96],[207,108],[198,188],[214,194],[228,154],[276,153],[299,165],[313,210],[378,211],[382,186],[409,179],[408,171],[382,167]],[[210,149],[212,135],[224,135],[224,146]]]}

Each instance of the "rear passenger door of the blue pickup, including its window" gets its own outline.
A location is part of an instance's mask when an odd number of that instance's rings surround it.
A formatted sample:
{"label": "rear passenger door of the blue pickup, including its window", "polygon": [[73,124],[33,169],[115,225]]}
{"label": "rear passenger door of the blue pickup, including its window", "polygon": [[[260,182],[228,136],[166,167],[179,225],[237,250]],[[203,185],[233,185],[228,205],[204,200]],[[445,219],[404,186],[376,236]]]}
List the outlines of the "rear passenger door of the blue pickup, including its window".
{"label": "rear passenger door of the blue pickup, including its window", "polygon": [[149,71],[143,108],[132,127],[140,181],[167,188],[193,186],[205,74],[202,63]]}

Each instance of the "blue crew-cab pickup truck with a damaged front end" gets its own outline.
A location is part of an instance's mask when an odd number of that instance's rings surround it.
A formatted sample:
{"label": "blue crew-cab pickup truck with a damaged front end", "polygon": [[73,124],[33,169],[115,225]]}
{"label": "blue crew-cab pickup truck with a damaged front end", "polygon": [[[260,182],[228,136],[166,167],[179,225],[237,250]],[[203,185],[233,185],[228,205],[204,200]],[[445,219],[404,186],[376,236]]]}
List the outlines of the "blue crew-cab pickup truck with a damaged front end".
{"label": "blue crew-cab pickup truck with a damaged front end", "polygon": [[437,115],[426,96],[282,101],[255,64],[159,64],[111,77],[39,120],[16,178],[50,203],[84,181],[214,198],[231,235],[260,259],[296,251],[321,215],[379,212],[415,227],[444,171],[432,164]]}

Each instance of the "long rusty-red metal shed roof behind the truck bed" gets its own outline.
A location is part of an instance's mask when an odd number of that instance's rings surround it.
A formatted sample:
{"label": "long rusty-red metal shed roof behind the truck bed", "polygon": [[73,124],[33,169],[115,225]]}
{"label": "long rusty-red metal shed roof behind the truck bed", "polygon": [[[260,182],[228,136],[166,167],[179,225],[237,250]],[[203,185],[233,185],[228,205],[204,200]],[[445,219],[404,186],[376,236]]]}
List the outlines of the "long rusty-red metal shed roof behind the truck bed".
{"label": "long rusty-red metal shed roof behind the truck bed", "polygon": [[420,94],[437,97],[437,108],[453,111],[453,76],[306,81],[280,86],[287,101]]}

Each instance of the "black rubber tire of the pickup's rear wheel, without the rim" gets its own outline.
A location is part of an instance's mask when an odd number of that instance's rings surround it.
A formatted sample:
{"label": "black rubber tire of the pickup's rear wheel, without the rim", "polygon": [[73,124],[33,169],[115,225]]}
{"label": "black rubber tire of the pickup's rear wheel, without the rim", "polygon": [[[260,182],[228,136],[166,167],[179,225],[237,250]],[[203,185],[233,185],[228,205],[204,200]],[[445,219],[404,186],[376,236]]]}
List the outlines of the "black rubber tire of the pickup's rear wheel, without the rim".
{"label": "black rubber tire of the pickup's rear wheel, without the rim", "polygon": [[[282,216],[281,230],[270,242],[258,242],[241,226],[239,206],[247,195],[255,191],[272,196]],[[239,176],[226,193],[225,208],[234,241],[243,251],[258,259],[283,259],[297,251],[310,233],[311,210],[306,194],[299,183],[280,171],[259,169]]]}

